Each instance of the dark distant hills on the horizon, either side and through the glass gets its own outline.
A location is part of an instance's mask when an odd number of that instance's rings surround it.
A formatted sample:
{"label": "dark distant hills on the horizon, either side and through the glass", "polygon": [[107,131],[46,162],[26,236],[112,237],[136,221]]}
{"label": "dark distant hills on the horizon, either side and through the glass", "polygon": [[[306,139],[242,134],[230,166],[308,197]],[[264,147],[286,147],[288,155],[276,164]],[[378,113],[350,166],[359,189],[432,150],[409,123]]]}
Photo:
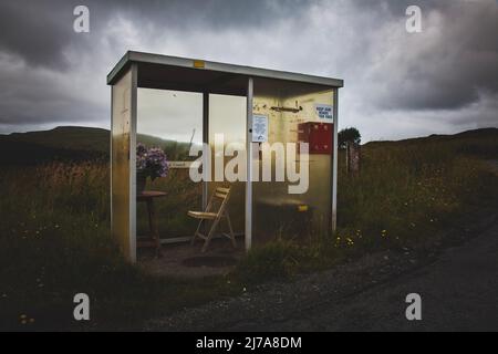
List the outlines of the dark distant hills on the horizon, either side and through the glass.
{"label": "dark distant hills on the horizon, either side and through the glass", "polygon": [[[188,143],[166,140],[138,134],[137,140],[163,148],[172,160],[188,153]],[[454,135],[430,135],[395,142],[370,142],[367,148],[386,145],[439,144],[455,145],[459,153],[498,158],[498,128],[483,128]],[[60,126],[51,131],[0,135],[0,164],[38,164],[51,160],[108,159],[110,131],[92,127]]]}

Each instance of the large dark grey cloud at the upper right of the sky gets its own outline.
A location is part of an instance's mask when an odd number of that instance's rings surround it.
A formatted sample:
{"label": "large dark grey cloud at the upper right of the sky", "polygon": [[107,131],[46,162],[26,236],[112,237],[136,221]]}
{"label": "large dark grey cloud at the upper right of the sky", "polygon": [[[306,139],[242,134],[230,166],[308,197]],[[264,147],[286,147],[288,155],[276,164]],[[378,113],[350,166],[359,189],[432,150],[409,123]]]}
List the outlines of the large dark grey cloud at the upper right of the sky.
{"label": "large dark grey cloud at the upper right of the sky", "polygon": [[391,87],[378,97],[382,106],[460,108],[481,92],[497,93],[497,3],[454,1],[424,14],[423,32],[386,48],[392,53],[373,74]]}

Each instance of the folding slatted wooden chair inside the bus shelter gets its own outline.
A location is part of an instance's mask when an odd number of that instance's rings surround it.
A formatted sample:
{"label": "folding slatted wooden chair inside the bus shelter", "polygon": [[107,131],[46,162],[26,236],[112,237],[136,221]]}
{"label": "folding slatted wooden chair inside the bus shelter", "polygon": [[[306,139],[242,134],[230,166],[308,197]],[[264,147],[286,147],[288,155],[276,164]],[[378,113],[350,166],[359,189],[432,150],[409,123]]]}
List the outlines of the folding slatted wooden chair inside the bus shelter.
{"label": "folding slatted wooden chair inside the bus shelter", "polygon": [[[196,241],[196,238],[200,238],[205,240],[201,252],[206,252],[209,242],[211,241],[212,237],[215,236],[216,228],[218,227],[218,223],[221,219],[225,219],[228,225],[229,233],[222,233],[227,238],[231,240],[231,243],[234,244],[234,248],[237,248],[234,229],[231,228],[231,221],[230,216],[228,215],[228,199],[230,197],[230,188],[222,188],[217,187],[215,192],[212,194],[211,198],[209,199],[209,202],[206,207],[205,211],[188,211],[188,216],[199,219],[199,225],[197,226],[196,233],[194,233],[194,237],[191,239],[191,244]],[[216,200],[215,200],[216,199]],[[217,202],[219,201],[219,202]],[[215,205],[219,204],[218,211],[212,210]],[[211,227],[209,229],[209,232],[206,235],[203,235],[200,232],[200,229],[203,227],[203,223],[206,220],[212,220]]]}

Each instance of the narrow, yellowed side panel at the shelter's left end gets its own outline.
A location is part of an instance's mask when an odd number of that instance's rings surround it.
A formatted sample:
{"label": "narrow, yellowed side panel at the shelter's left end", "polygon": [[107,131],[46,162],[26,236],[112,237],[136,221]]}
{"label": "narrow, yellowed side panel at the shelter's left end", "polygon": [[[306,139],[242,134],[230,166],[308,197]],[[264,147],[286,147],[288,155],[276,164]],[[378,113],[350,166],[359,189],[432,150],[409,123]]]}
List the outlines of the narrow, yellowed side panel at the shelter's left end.
{"label": "narrow, yellowed side panel at the shelter's left end", "polygon": [[129,144],[132,122],[132,72],[112,87],[112,226],[113,237],[132,260],[129,233]]}

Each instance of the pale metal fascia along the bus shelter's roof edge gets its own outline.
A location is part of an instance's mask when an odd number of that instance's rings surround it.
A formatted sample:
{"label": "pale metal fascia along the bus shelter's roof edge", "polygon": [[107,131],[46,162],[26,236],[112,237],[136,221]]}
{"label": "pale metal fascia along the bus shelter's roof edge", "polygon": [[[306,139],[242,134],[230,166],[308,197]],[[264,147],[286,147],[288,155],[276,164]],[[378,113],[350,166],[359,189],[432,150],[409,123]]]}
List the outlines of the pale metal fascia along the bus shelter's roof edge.
{"label": "pale metal fascia along the bus shelter's roof edge", "polygon": [[163,65],[172,65],[172,66],[180,66],[180,67],[195,67],[194,62],[203,62],[204,67],[198,70],[211,70],[219,71],[226,73],[234,73],[247,76],[255,77],[269,77],[269,79],[278,79],[278,80],[287,80],[287,81],[295,81],[295,82],[305,82],[311,84],[320,84],[331,87],[343,87],[344,81],[340,79],[331,79],[323,76],[314,76],[307,75],[301,73],[292,73],[286,71],[270,70],[270,69],[261,69],[261,67],[252,67],[252,66],[243,66],[236,64],[227,64],[219,62],[210,62],[204,60],[188,59],[188,58],[178,58],[178,56],[168,56],[162,54],[152,54],[152,53],[143,53],[135,51],[127,51],[123,58],[117,62],[117,64],[113,67],[113,70],[107,75],[107,84],[113,84],[115,80],[121,75],[122,71],[132,62],[137,63],[154,63],[154,64],[163,64]]}

